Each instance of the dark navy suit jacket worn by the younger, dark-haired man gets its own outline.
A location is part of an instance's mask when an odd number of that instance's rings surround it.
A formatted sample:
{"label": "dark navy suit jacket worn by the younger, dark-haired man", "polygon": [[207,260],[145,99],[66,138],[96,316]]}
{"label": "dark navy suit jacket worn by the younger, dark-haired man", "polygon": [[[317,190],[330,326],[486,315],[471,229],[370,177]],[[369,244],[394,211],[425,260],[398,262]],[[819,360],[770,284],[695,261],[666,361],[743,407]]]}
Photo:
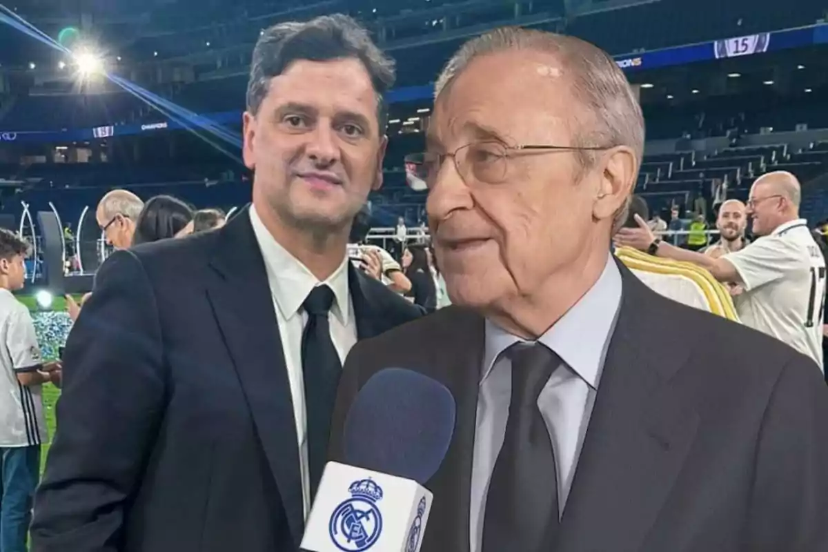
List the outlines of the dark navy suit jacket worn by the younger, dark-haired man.
{"label": "dark navy suit jacket worn by the younger, dark-haired man", "polygon": [[[351,270],[359,338],[421,314]],[[33,550],[298,548],[291,392],[248,214],[110,257],[64,362]]]}

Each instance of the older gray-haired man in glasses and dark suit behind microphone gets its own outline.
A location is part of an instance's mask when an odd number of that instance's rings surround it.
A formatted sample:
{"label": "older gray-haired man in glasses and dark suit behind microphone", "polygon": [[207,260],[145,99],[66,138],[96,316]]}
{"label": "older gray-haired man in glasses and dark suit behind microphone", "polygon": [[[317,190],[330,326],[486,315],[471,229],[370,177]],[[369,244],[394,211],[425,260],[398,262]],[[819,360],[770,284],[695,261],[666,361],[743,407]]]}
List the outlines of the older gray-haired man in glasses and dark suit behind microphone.
{"label": "older gray-haired man in glasses and dark suit behind microphone", "polygon": [[426,143],[432,240],[460,306],[354,347],[331,433],[341,459],[345,413],[384,367],[450,389],[421,550],[828,550],[819,368],[610,256],[643,153],[612,58],[542,31],[480,36],[438,79]]}

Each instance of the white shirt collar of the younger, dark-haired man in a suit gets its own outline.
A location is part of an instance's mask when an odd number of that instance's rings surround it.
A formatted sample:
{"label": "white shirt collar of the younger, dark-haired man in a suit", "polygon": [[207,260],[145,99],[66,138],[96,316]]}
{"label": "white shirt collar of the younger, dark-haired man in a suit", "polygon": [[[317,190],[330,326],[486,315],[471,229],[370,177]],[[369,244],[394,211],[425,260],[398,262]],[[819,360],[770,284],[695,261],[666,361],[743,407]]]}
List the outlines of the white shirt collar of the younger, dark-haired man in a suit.
{"label": "white shirt collar of the younger, dark-haired man in a suit", "polygon": [[342,264],[324,282],[320,282],[307,266],[293,257],[282,244],[273,238],[267,231],[262,219],[259,218],[253,205],[250,206],[250,223],[253,233],[262,250],[264,266],[267,271],[267,280],[270,282],[273,298],[277,308],[285,319],[291,319],[305,302],[315,286],[326,284],[334,292],[334,305],[331,312],[342,324],[349,321],[349,292],[348,292],[348,257],[343,256]]}

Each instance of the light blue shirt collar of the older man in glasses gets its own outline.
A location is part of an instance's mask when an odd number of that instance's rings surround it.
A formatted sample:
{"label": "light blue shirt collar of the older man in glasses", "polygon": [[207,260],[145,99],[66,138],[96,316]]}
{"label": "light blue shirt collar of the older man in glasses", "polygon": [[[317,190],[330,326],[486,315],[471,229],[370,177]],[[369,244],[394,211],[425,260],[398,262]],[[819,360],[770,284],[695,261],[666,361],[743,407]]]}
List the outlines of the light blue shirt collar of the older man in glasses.
{"label": "light blue shirt collar of the older man in glasses", "polygon": [[[538,341],[557,353],[593,389],[598,389],[606,345],[620,305],[621,273],[613,258],[609,257],[595,285]],[[514,343],[525,343],[524,339],[509,334],[489,319],[486,319],[485,331],[481,382],[489,377],[500,353]]]}

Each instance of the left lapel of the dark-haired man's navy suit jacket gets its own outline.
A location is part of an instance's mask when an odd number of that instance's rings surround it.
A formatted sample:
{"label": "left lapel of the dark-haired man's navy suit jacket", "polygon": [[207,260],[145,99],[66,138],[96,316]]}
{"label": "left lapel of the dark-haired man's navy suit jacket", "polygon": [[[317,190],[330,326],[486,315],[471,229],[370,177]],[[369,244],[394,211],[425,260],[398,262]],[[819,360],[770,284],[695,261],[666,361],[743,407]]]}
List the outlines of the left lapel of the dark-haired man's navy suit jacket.
{"label": "left lapel of the dark-haired man's navy suit jacket", "polygon": [[298,545],[304,508],[293,401],[267,272],[248,213],[219,231],[210,263],[216,275],[207,295]]}

